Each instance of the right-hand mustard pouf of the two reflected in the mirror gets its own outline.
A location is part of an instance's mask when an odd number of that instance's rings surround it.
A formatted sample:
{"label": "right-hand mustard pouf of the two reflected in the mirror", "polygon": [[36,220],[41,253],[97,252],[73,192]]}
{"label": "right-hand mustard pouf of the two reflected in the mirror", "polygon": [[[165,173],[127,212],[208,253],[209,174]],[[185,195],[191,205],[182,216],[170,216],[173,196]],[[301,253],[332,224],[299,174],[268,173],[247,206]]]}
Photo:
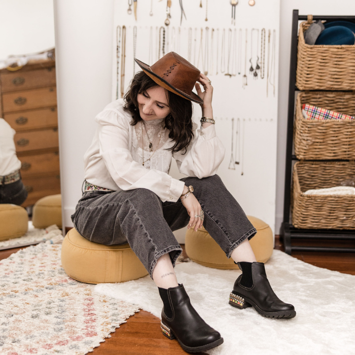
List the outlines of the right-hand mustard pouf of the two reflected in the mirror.
{"label": "right-hand mustard pouf of the two reflected in the mirror", "polygon": [[56,224],[62,227],[61,195],[50,195],[39,199],[33,206],[32,224],[34,228],[47,228]]}

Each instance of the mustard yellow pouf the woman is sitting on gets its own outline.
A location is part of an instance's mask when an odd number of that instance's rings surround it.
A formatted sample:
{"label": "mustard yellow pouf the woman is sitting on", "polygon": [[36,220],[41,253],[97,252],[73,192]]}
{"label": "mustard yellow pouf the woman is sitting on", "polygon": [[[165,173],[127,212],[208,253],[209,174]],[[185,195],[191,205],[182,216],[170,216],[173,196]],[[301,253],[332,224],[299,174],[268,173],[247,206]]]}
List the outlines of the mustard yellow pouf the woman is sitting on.
{"label": "mustard yellow pouf the woman is sitting on", "polygon": [[61,261],[70,277],[87,283],[124,282],[148,275],[129,244],[94,243],[75,228],[63,240]]}

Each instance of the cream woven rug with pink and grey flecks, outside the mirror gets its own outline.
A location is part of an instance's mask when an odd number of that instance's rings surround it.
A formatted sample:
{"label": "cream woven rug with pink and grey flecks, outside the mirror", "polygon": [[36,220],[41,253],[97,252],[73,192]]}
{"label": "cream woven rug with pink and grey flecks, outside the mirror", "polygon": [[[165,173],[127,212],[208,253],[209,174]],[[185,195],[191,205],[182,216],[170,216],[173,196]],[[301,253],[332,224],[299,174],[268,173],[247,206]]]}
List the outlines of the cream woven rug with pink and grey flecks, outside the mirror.
{"label": "cream woven rug with pink and grey flecks, outside the mirror", "polygon": [[60,251],[46,241],[0,261],[2,355],[84,355],[138,311],[67,276]]}

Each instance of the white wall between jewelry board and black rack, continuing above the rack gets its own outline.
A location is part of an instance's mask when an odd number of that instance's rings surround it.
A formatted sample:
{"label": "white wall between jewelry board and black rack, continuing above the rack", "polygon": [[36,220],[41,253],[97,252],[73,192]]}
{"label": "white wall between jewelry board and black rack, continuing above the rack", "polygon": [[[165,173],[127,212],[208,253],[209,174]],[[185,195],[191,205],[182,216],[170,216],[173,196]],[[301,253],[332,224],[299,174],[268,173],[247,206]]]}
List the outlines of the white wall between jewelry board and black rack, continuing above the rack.
{"label": "white wall between jewelry board and black rack, continuing above the rack", "polygon": [[350,0],[337,0],[336,2],[333,0],[280,0],[275,234],[278,234],[283,218],[283,190],[285,188],[286,132],[293,9],[298,9],[300,15],[354,16],[355,2]]}

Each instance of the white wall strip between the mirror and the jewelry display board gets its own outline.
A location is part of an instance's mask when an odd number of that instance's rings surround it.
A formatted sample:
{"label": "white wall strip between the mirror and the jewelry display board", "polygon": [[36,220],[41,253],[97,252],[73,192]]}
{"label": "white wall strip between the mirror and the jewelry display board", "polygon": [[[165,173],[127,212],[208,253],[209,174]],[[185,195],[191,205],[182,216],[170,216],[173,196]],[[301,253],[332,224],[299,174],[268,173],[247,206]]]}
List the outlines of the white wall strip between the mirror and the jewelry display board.
{"label": "white wall strip between the mirror and the jewelry display board", "polygon": [[93,118],[111,101],[113,1],[55,0],[63,226],[81,197]]}

